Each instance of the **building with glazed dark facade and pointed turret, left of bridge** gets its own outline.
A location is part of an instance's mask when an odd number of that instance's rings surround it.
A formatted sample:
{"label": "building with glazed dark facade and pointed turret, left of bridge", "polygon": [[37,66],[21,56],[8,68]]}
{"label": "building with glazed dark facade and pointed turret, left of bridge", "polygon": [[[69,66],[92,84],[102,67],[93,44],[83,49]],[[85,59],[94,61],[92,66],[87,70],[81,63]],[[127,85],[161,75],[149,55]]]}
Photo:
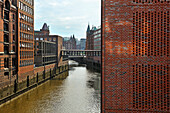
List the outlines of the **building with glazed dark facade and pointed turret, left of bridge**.
{"label": "building with glazed dark facade and pointed turret, left of bridge", "polygon": [[63,39],[58,35],[50,35],[49,26],[44,23],[40,31],[34,32],[34,64],[35,66],[60,63],[60,50]]}

